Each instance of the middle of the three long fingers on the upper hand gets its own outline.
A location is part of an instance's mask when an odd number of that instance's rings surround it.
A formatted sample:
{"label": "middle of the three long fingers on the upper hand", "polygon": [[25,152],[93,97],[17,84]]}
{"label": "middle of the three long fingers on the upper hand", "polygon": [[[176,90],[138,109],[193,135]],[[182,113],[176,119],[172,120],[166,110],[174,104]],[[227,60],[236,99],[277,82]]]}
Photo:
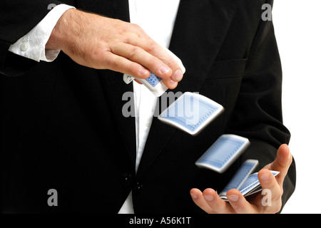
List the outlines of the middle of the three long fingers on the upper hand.
{"label": "middle of the three long fingers on the upper hand", "polygon": [[[141,66],[144,66],[160,78],[169,78],[172,76],[173,72],[169,66],[161,61],[161,59],[156,58],[151,55],[151,53],[145,51],[143,48],[132,46],[128,43],[117,43],[117,45],[111,48],[111,51],[118,56],[122,56],[130,61],[139,63]],[[141,76],[138,78],[141,78]]]}

